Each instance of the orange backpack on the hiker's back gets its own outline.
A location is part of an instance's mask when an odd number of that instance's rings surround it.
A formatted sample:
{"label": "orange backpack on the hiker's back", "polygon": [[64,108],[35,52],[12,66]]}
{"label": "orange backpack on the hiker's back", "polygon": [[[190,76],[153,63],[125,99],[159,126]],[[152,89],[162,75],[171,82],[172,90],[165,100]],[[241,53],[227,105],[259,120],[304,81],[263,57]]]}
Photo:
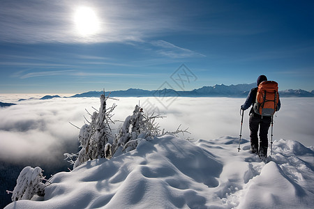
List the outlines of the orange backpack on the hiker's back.
{"label": "orange backpack on the hiker's back", "polygon": [[272,116],[277,110],[278,101],[279,93],[277,82],[265,81],[260,83],[257,88],[253,109],[256,114]]}

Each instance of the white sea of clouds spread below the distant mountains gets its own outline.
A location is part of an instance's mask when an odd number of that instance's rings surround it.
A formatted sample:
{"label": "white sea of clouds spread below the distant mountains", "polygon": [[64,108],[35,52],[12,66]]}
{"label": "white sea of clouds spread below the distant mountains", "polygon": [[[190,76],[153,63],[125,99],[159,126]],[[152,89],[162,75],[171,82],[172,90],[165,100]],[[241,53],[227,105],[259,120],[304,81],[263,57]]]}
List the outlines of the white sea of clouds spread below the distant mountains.
{"label": "white sea of clouds spread below the distant mountains", "polygon": [[[0,96],[0,99],[8,101]],[[12,97],[11,97],[12,98]],[[14,98],[14,97],[13,97]],[[17,98],[15,98],[17,99]],[[136,104],[144,112],[166,116],[159,119],[161,130],[175,131],[188,128],[189,139],[217,139],[223,136],[239,137],[240,105],[245,98],[119,98],[113,118],[124,121]],[[54,162],[64,152],[78,147],[77,135],[89,113],[99,109],[99,98],[54,98],[51,100],[23,100],[17,105],[0,108],[0,161],[19,162],[35,157]],[[314,146],[313,98],[282,98],[282,108],[274,118],[274,140],[292,139],[305,146]],[[94,109],[94,108],[95,109]],[[243,138],[249,139],[248,111],[244,112]],[[85,122],[84,122],[85,121]],[[77,127],[70,125],[73,123]],[[121,122],[112,125],[117,132]],[[269,129],[270,138],[270,129]],[[234,150],[237,152],[237,150]]]}

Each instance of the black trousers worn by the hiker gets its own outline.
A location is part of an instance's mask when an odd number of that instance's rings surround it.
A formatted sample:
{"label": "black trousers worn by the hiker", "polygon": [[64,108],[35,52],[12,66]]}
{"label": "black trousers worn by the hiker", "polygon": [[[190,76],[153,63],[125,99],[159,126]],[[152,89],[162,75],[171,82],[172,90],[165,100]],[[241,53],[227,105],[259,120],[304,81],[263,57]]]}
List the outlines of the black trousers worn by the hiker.
{"label": "black trousers worn by the hiker", "polygon": [[250,125],[250,137],[251,137],[251,146],[258,148],[258,137],[257,132],[260,127],[260,149],[261,147],[268,147],[268,130],[271,124],[271,116],[260,116],[259,114],[252,113],[249,119]]}

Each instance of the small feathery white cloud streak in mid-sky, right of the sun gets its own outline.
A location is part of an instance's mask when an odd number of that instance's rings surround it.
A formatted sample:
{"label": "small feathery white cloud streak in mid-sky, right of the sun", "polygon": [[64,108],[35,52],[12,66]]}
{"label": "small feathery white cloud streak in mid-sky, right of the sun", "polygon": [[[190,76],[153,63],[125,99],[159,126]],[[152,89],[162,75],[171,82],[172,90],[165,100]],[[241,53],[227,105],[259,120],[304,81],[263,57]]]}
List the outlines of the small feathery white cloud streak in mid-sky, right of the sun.
{"label": "small feathery white cloud streak in mid-sky, right of the sun", "polygon": [[151,45],[159,48],[157,49],[158,54],[174,59],[187,57],[205,57],[204,54],[200,54],[198,52],[194,52],[190,49],[185,49],[183,47],[178,47],[165,40],[151,41]]}

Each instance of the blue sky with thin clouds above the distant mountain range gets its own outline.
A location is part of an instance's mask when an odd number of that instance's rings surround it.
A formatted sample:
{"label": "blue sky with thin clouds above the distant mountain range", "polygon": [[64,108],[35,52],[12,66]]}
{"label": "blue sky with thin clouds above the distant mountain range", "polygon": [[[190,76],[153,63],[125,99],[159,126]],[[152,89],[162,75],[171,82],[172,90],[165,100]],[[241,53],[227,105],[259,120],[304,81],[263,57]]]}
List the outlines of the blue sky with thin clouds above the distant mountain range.
{"label": "blue sky with thin clouds above the distant mountain range", "polygon": [[[83,28],[80,8],[93,13]],[[314,89],[313,1],[1,1],[0,93]],[[82,20],[83,19],[83,20]],[[80,21],[89,20],[82,16]],[[94,23],[96,28],[92,28]]]}

